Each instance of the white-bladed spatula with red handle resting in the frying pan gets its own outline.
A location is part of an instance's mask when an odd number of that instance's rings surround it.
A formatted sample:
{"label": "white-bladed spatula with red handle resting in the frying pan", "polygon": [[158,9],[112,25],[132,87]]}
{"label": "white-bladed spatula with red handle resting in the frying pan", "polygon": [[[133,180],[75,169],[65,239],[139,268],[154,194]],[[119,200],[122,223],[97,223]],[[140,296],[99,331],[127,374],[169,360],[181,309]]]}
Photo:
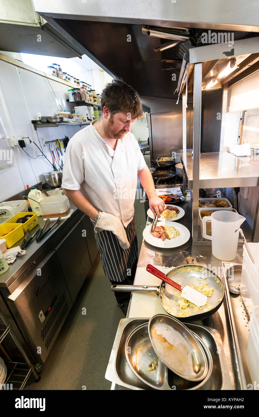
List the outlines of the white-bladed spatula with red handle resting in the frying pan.
{"label": "white-bladed spatula with red handle resting in the frying pan", "polygon": [[167,282],[167,284],[181,291],[182,296],[192,304],[202,307],[207,303],[208,297],[196,289],[190,287],[189,285],[182,287],[180,284],[177,284],[177,282],[174,282],[172,279],[168,278],[162,271],[155,268],[153,265],[148,264],[146,269],[148,272],[150,272],[150,274],[157,276],[157,278],[162,279],[162,281]]}

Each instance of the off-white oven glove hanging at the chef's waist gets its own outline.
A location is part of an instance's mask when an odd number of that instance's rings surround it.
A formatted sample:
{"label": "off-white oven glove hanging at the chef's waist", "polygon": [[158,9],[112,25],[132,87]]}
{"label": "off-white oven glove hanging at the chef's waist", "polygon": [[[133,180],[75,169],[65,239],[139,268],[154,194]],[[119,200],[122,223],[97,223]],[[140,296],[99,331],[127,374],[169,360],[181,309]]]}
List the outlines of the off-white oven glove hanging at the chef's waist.
{"label": "off-white oven glove hanging at the chef's waist", "polygon": [[122,249],[129,248],[129,241],[121,221],[112,214],[99,211],[99,216],[95,224],[95,232],[98,233],[102,230],[108,230],[115,234]]}

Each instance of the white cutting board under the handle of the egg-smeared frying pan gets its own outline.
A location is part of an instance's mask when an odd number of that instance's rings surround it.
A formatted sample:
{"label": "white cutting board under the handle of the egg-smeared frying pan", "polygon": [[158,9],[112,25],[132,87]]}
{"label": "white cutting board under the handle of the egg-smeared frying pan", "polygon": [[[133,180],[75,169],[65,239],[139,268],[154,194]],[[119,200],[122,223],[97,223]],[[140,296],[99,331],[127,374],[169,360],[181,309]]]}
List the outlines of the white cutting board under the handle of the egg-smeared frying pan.
{"label": "white cutting board under the handle of the egg-smeared frying pan", "polygon": [[[167,274],[172,268],[156,266],[160,271]],[[159,286],[161,279],[147,272],[146,268],[137,268],[134,285],[152,285]],[[148,318],[154,314],[167,314],[159,301],[159,296],[154,292],[136,291],[132,293],[132,299],[129,309],[129,318],[143,317]],[[169,316],[169,314],[167,314]]]}

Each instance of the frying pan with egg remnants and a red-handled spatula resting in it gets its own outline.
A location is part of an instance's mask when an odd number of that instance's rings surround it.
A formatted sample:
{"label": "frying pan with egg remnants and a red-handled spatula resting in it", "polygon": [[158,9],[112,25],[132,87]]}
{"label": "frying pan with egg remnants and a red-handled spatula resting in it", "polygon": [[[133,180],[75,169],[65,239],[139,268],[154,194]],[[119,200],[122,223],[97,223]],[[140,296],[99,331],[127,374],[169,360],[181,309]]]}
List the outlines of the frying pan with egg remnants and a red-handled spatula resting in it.
{"label": "frying pan with egg remnants and a red-handled spatula resting in it", "polygon": [[[224,300],[224,285],[222,280],[214,274],[213,271],[208,269],[205,266],[194,265],[193,260],[190,256],[186,259],[187,264],[179,265],[176,268],[169,271],[166,276],[168,276],[173,281],[176,281],[182,286],[195,284],[199,285],[199,282],[207,282],[209,287],[214,288],[213,295],[208,297],[208,304],[212,308],[208,311],[194,311],[191,307],[181,310],[177,304],[177,299],[181,297],[181,293],[174,289],[171,285],[166,284],[164,281],[161,281],[159,286],[142,286],[142,285],[112,285],[112,291],[146,291],[146,292],[155,292],[159,295],[159,301],[162,305],[164,311],[166,311],[170,316],[175,317],[181,322],[190,322],[205,319],[206,317],[212,316]],[[205,278],[205,280],[204,280]],[[197,280],[201,281],[197,281]],[[172,312],[174,308],[174,313]],[[188,314],[190,316],[180,317],[177,314]]]}

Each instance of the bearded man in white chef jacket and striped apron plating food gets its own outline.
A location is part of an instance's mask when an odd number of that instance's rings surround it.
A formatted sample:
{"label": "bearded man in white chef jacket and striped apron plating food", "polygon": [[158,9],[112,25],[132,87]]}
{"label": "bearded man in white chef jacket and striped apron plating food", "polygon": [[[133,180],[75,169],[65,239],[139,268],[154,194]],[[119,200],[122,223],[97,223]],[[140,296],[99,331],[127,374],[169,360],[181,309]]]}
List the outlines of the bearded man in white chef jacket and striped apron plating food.
{"label": "bearded man in white chef jacket and striped apron plating food", "polygon": [[[69,141],[63,167],[65,195],[90,217],[105,275],[111,284],[132,284],[137,266],[134,198],[137,176],[158,217],[164,201],[140,151],[132,123],[142,115],[139,95],[121,79],[102,92],[102,116]],[[125,311],[130,293],[115,292]]]}

